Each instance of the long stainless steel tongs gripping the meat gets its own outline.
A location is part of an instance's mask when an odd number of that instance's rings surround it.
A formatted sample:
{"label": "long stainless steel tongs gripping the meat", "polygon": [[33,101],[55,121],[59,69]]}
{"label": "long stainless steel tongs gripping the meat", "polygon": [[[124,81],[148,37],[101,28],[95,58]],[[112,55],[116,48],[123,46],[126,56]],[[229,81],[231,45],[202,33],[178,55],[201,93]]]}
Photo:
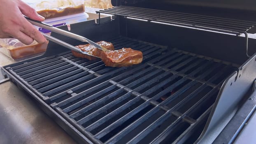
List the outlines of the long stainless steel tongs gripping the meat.
{"label": "long stainless steel tongs gripping the meat", "polygon": [[[39,26],[39,27],[41,27],[41,28],[45,28],[45,29],[47,29],[47,30],[51,30],[52,32],[59,33],[59,34],[61,34],[61,35],[65,35],[65,36],[70,37],[70,38],[73,38],[73,39],[77,39],[77,40],[79,40],[79,41],[81,41],[81,42],[88,42],[89,44],[95,46],[96,48],[98,48],[98,49],[100,49],[100,50],[102,50],[102,51],[109,51],[108,49],[104,48],[103,46],[100,46],[99,44],[96,44],[95,42],[91,41],[90,39],[87,39],[86,37],[82,37],[82,36],[80,36],[80,35],[76,35],[76,34],[74,34],[74,33],[70,33],[70,32],[68,32],[68,31],[61,30],[61,29],[59,29],[59,28],[55,28],[54,26],[51,26],[51,25],[49,25],[49,24],[47,24],[47,23],[43,23],[43,22],[41,22],[41,21],[35,21],[35,20],[30,19],[30,18],[28,18],[28,17],[26,17],[26,16],[25,16],[25,18],[26,18],[31,24],[33,24],[33,25],[35,25],[35,26]],[[41,32],[41,33],[42,33],[42,32]],[[56,39],[55,37],[52,37],[52,36],[47,35],[47,34],[45,34],[45,33],[42,33],[42,35],[44,35],[44,37],[46,37],[46,39],[48,39],[48,40],[50,40],[50,41],[52,41],[52,42],[55,42],[55,43],[57,43],[57,44],[60,44],[61,46],[64,46],[64,47],[66,47],[66,48],[68,48],[68,49],[71,49],[71,50],[73,50],[73,51],[77,51],[77,52],[79,52],[79,53],[83,53],[83,54],[86,54],[86,55],[89,55],[89,56],[93,56],[91,53],[88,53],[87,51],[82,51],[81,49],[79,49],[79,48],[77,48],[77,47],[75,47],[75,46],[72,46],[71,44],[68,44],[68,43],[66,43],[66,42],[63,42],[63,41],[61,41],[60,39]],[[97,56],[95,56],[95,57],[97,57]]]}

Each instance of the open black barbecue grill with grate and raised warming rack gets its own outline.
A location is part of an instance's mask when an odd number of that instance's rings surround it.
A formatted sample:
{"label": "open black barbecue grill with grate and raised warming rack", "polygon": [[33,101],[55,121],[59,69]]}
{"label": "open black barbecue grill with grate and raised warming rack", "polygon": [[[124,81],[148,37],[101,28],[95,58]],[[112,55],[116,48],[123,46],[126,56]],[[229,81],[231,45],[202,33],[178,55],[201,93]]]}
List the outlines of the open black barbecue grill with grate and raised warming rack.
{"label": "open black barbecue grill with grate and raised warming rack", "polygon": [[50,42],[42,56],[5,73],[79,143],[233,142],[256,104],[256,40],[248,36],[256,21],[247,15],[255,11],[165,0],[112,4],[71,32],[142,51],[141,64],[106,67]]}

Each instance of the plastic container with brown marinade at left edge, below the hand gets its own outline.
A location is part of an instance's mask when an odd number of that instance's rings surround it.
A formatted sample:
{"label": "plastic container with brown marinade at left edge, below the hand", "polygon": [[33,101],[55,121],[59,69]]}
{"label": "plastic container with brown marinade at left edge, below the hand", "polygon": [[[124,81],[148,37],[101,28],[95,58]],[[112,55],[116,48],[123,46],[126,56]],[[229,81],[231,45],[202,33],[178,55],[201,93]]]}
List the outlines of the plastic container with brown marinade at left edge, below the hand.
{"label": "plastic container with brown marinade at left edge, below the hand", "polygon": [[0,45],[2,46],[2,48],[0,48],[2,53],[16,61],[19,61],[41,55],[46,51],[48,42],[39,44],[34,41],[30,45],[25,45],[19,42],[19,40],[11,38],[0,39]]}

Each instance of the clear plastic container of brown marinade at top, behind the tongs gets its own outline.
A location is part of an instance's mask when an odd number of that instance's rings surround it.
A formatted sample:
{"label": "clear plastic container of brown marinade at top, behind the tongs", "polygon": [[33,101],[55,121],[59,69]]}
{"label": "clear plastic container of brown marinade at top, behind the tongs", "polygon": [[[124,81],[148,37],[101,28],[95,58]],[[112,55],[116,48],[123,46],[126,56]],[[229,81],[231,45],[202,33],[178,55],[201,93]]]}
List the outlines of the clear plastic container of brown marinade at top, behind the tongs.
{"label": "clear plastic container of brown marinade at top, behind the tongs", "polygon": [[[37,13],[44,16],[44,23],[55,27],[86,21],[89,17],[84,12],[84,0],[52,0],[42,1],[33,6]],[[51,33],[49,30],[38,28],[43,33]]]}

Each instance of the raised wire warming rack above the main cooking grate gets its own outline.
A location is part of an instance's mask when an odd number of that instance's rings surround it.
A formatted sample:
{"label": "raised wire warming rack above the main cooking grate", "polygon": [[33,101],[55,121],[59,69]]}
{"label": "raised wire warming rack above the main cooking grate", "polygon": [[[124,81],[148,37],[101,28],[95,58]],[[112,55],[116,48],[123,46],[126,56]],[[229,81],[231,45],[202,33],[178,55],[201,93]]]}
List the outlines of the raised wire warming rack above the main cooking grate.
{"label": "raised wire warming rack above the main cooking grate", "polygon": [[158,9],[146,9],[140,7],[116,6],[109,9],[97,11],[100,13],[113,14],[126,18],[142,19],[149,22],[172,24],[175,26],[186,26],[189,28],[199,28],[202,30],[211,30],[234,35],[245,35],[246,55],[248,55],[248,34],[247,31],[256,25],[255,21],[244,21],[237,19],[228,19],[214,16],[205,16],[198,14],[188,14],[182,12],[163,11]]}

